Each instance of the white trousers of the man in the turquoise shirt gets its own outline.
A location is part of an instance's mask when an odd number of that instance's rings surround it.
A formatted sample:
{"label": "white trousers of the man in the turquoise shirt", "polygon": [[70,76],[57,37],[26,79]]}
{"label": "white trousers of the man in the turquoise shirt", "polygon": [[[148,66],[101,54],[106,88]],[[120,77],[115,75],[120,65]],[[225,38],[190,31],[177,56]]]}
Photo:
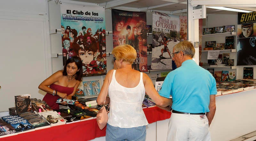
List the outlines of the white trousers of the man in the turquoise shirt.
{"label": "white trousers of the man in the turquoise shirt", "polygon": [[167,141],[211,141],[206,115],[172,113]]}

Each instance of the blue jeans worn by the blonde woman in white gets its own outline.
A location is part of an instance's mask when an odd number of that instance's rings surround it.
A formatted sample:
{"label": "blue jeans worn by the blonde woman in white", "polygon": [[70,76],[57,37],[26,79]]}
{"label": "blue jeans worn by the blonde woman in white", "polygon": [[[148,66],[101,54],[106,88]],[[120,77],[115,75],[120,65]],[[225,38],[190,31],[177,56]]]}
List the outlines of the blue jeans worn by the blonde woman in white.
{"label": "blue jeans worn by the blonde woman in white", "polygon": [[146,125],[133,128],[120,128],[107,124],[106,141],[145,141]]}

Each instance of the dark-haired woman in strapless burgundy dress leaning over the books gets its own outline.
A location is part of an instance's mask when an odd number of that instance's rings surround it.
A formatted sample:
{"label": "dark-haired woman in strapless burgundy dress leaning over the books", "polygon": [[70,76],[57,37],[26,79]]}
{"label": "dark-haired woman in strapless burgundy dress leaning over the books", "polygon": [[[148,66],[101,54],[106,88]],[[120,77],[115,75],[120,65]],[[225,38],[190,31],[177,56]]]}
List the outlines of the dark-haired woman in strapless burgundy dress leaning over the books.
{"label": "dark-haired woman in strapless burgundy dress leaning over the books", "polygon": [[[73,56],[68,58],[64,70],[59,70],[46,78],[38,88],[46,92],[43,100],[54,110],[59,109],[59,98],[71,100],[82,81],[82,60]],[[49,86],[49,87],[48,87]]]}

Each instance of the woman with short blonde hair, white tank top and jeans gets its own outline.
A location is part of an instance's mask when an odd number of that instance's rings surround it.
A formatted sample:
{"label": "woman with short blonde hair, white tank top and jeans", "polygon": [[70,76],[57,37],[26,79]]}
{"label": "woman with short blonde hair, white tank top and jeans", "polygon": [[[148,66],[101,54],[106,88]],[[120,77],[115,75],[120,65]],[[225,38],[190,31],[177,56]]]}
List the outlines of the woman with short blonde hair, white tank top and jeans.
{"label": "woman with short blonde hair, white tank top and jeans", "polygon": [[[130,45],[117,46],[112,51],[116,70],[110,70],[104,80],[98,104],[103,104],[105,93],[111,103],[106,130],[106,141],[145,141],[148,121],[142,110],[145,92],[161,107],[172,104],[171,99],[160,96],[147,74],[132,69],[136,50]],[[110,78],[111,72],[113,76]],[[109,87],[108,87],[108,81]]]}

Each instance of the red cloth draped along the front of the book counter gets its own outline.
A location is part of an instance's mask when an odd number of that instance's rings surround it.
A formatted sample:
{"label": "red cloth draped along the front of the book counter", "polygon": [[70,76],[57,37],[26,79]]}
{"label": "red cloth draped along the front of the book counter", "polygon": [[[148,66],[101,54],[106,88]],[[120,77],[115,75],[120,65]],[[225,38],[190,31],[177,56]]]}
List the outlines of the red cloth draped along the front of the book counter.
{"label": "red cloth draped along the front of the book counter", "polygon": [[[167,112],[158,107],[143,109],[148,123],[168,119],[171,117],[171,112]],[[92,140],[96,137],[106,135],[106,127],[100,130],[96,119],[75,122],[65,125],[54,126],[41,130],[35,130],[26,133],[20,133],[10,137],[2,137],[0,141],[7,140],[26,140],[26,141],[58,141],[58,140]]]}

